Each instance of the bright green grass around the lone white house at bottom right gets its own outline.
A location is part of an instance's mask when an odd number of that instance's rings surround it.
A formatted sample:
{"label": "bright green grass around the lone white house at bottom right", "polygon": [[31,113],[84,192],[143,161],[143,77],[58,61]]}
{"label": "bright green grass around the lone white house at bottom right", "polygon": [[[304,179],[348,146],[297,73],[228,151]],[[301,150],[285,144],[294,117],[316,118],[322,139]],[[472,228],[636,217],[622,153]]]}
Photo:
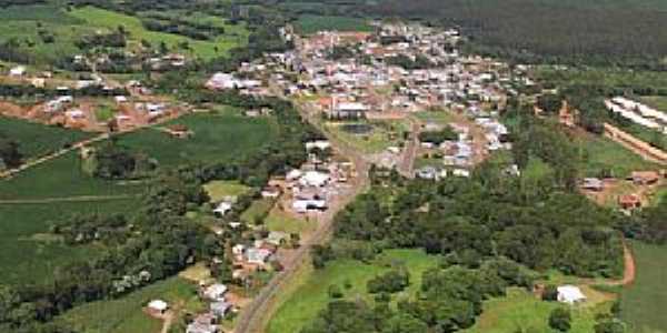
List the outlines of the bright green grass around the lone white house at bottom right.
{"label": "bright green grass around the lone white house at bottom right", "polygon": [[[526,290],[511,287],[505,297],[492,299],[484,304],[484,312],[467,333],[508,333],[517,329],[529,332],[552,332],[548,325],[550,312],[564,306],[557,302],[544,302]],[[608,305],[601,305],[603,307]],[[591,307],[573,307],[571,333],[594,332],[595,314]]]}

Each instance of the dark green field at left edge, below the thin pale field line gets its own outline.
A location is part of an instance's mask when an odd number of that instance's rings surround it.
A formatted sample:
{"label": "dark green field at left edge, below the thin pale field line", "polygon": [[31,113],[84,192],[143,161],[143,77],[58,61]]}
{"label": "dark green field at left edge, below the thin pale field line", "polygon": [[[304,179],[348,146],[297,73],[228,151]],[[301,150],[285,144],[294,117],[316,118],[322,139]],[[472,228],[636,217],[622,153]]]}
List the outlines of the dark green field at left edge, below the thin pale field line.
{"label": "dark green field at left edge, below the thin pale field line", "polygon": [[136,205],[136,200],[0,203],[0,283],[48,281],[56,268],[86,260],[98,252],[96,246],[61,243],[48,233],[51,222],[74,213],[131,212]]}

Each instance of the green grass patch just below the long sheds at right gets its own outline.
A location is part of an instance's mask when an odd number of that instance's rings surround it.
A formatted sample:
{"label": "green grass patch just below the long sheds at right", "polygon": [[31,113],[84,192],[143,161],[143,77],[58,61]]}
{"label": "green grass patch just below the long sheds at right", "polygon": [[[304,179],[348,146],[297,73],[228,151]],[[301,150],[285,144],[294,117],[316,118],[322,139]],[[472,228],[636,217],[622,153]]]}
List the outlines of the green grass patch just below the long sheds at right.
{"label": "green grass patch just below the long sheds at right", "polygon": [[658,170],[659,167],[645,161],[641,157],[606,138],[585,134],[575,141],[585,160],[581,165],[584,175],[598,175],[603,169],[611,170],[617,178],[625,178],[635,170]]}

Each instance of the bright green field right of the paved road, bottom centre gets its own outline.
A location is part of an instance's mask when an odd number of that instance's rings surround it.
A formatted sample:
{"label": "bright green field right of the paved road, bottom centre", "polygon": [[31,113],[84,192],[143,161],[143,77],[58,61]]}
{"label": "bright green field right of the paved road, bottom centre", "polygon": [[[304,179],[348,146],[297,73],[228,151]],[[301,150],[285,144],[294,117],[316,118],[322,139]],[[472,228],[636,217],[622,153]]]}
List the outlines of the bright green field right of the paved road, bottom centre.
{"label": "bright green field right of the paved road, bottom centre", "polygon": [[[365,264],[354,260],[336,260],[327,263],[322,270],[306,275],[299,281],[298,289],[285,300],[269,322],[268,333],[299,332],[317,313],[325,309],[329,296],[329,285],[337,284],[345,293],[345,297],[355,300],[365,299],[372,301],[366,291],[368,280],[388,270],[387,263],[402,262],[410,271],[410,286],[398,294],[398,297],[409,297],[415,294],[421,284],[421,273],[436,266],[437,256],[427,255],[421,250],[388,250],[372,264]],[[351,287],[344,284],[349,282]]]}

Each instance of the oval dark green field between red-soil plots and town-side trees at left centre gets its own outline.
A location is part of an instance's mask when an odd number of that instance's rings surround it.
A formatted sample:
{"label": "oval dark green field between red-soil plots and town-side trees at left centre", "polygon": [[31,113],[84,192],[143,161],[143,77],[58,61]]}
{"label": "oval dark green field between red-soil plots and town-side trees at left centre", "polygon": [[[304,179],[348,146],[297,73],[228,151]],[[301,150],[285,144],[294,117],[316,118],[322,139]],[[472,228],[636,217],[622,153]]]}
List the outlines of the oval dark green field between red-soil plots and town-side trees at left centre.
{"label": "oval dark green field between red-soil plots and town-side trees at left centre", "polygon": [[162,167],[173,167],[239,159],[257,151],[277,134],[272,119],[249,119],[232,111],[185,115],[166,125],[169,124],[183,124],[195,134],[178,139],[156,129],[143,129],[120,137],[118,142],[157,159]]}

